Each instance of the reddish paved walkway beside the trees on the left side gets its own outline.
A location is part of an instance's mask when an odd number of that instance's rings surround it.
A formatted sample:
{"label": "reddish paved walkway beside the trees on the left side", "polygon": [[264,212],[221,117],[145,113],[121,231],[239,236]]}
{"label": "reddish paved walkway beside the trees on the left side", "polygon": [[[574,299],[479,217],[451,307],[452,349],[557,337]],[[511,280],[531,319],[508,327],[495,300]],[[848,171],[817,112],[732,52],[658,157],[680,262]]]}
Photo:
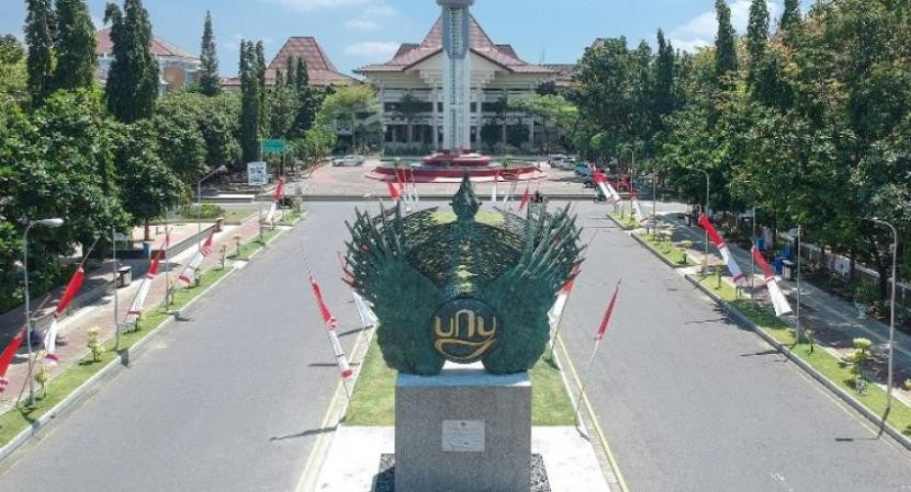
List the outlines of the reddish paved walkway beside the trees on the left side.
{"label": "reddish paved walkway beside the trees on the left side", "polygon": [[[195,226],[193,227],[192,233],[195,233]],[[189,234],[189,236],[192,236]],[[215,234],[214,238],[214,248],[213,253],[210,254],[205,261],[203,262],[202,270],[209,270],[215,264],[220,263],[221,255],[220,249],[221,244],[228,244],[228,254],[232,254],[234,251],[234,236],[239,234],[244,239],[244,242],[249,241],[251,238],[259,233],[259,220],[256,215],[250,216],[246,221],[244,221],[239,226],[227,226],[225,229]],[[179,237],[172,236],[172,243],[176,241],[180,241]],[[159,241],[160,242],[160,241]],[[156,242],[158,244],[158,242]],[[185,264],[190,261],[190,259],[195,254],[196,249],[189,248],[184,252],[178,254],[175,258],[169,259],[169,267],[166,268],[165,264],[161,265],[161,270],[159,271],[158,276],[153,282],[151,288],[149,290],[148,297],[146,298],[146,309],[151,309],[158,306],[165,299],[165,285],[166,281],[170,281],[173,283],[177,279],[177,276],[183,271]],[[133,261],[124,262],[126,264],[134,263]],[[92,282],[110,282],[111,274],[110,274],[110,263],[108,264],[108,268],[95,270],[92,275],[90,275]],[[133,301],[134,296],[139,287],[139,279],[142,278],[142,274],[148,268],[148,261],[136,261],[133,264],[133,279],[134,282],[131,284],[130,287],[117,289],[117,319],[123,322],[124,317],[126,316],[126,311],[130,308],[131,302]],[[108,272],[108,273],[105,273]],[[166,275],[166,272],[168,275]],[[89,278],[87,278],[87,283]],[[83,287],[85,289],[86,287]],[[177,288],[183,288],[182,283],[177,284]],[[56,295],[59,298],[61,293],[52,294],[52,296]],[[55,306],[55,302],[48,302],[49,306]],[[22,312],[16,311],[19,317],[16,319],[15,316],[3,317],[0,319],[0,322],[4,324],[0,324],[0,330],[12,332],[16,328],[22,327],[23,318]],[[60,331],[59,331],[59,339],[57,343],[57,356],[59,357],[59,364],[52,370],[52,378],[58,375],[61,370],[66,367],[77,363],[83,356],[88,354],[87,341],[88,341],[88,329],[91,327],[98,327],[101,329],[101,339],[102,340],[110,340],[114,335],[114,295],[109,294],[101,299],[98,299],[90,306],[79,309],[72,316],[64,319],[60,322]],[[7,388],[7,391],[0,394],[0,414],[5,412],[8,409],[15,404],[16,399],[20,397],[21,391],[25,390],[22,394],[24,398],[27,398],[27,371],[29,371],[29,364],[27,364],[27,347],[24,346],[20,348],[19,354],[13,359],[12,365],[10,366],[7,378],[9,379],[10,384]]]}

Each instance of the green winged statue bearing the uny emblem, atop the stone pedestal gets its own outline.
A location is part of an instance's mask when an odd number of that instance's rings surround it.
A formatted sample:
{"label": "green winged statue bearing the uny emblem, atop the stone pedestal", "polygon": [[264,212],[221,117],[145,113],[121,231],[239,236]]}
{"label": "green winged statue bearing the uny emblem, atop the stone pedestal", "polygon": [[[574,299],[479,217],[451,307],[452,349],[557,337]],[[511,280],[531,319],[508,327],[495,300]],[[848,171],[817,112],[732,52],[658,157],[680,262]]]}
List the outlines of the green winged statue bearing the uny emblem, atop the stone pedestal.
{"label": "green winged statue bearing the uny emblem, atop the stone pedestal", "polygon": [[468,176],[451,214],[407,217],[401,206],[372,217],[356,210],[347,282],[372,302],[386,364],[438,374],[446,361],[481,361],[493,374],[530,369],[550,339],[548,310],[581,262],[581,230],[566,208],[532,204],[501,225],[475,220]]}

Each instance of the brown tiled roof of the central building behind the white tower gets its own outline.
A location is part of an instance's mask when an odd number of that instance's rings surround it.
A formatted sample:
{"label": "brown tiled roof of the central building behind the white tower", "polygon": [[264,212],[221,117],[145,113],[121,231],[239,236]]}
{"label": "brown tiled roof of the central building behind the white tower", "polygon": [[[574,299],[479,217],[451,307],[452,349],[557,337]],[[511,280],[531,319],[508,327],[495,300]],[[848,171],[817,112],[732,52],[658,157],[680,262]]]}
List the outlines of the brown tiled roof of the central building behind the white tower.
{"label": "brown tiled roof of the central building behind the white tower", "polygon": [[[469,39],[471,50],[476,55],[499,65],[511,72],[554,73],[540,65],[529,65],[516,55],[510,45],[495,45],[481,24],[472,15],[469,21]],[[430,32],[419,45],[403,44],[395,56],[385,64],[368,65],[355,70],[356,73],[405,71],[442,50],[442,16],[437,20]]]}

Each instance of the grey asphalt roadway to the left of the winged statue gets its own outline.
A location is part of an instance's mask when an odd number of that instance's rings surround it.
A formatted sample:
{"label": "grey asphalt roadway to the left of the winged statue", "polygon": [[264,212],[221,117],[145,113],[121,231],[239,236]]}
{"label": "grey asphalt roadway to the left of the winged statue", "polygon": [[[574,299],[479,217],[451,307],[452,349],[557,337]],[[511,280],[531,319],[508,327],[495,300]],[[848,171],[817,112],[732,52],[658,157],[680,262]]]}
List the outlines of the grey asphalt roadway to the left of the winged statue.
{"label": "grey asphalt roadway to the left of the winged statue", "polygon": [[293,491],[338,381],[301,249],[350,350],[359,321],[336,249],[352,207],[313,205],[8,459],[0,491]]}

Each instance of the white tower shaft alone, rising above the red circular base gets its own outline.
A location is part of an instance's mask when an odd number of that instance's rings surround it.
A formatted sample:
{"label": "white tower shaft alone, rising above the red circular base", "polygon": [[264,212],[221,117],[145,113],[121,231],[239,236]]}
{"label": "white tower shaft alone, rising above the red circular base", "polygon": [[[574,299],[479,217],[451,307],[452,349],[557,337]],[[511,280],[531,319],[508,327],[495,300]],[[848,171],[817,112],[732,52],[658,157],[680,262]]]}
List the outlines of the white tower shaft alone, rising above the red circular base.
{"label": "white tower shaft alone, rising above the red circular base", "polygon": [[471,56],[469,7],[474,0],[437,0],[442,7],[443,149],[471,149]]}

